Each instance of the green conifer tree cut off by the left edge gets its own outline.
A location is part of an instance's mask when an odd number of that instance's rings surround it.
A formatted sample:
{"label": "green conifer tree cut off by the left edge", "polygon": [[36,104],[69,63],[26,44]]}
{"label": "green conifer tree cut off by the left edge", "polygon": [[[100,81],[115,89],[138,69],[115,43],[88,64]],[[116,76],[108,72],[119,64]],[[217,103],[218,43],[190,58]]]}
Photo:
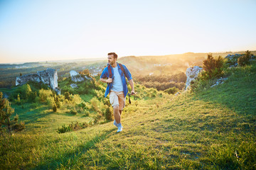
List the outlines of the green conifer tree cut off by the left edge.
{"label": "green conifer tree cut off by the left edge", "polygon": [[14,113],[14,108],[11,108],[7,98],[3,98],[3,93],[0,91],[0,130],[4,130],[11,134],[12,130],[20,131],[25,128],[24,123],[18,124],[18,115],[11,120],[11,115]]}

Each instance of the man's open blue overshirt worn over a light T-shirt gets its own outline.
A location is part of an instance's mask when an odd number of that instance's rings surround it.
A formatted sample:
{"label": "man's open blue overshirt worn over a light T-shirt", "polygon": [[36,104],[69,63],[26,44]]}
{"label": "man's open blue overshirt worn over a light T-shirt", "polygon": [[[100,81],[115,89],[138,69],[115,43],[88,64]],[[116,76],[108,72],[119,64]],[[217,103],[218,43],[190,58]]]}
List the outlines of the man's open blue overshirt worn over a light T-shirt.
{"label": "man's open blue overshirt worn over a light T-shirt", "polygon": [[[107,64],[109,65],[109,64]],[[124,89],[124,97],[127,96],[128,94],[128,87],[127,87],[127,81],[125,80],[125,75],[127,76],[127,79],[130,80],[132,79],[132,74],[129,72],[129,70],[127,69],[127,67],[122,64],[122,66],[124,67],[124,72],[122,72],[122,69],[121,67],[119,66],[119,64],[117,63],[117,67],[118,67],[118,72],[121,76],[121,79],[122,79],[122,86],[123,86],[123,89]],[[112,79],[114,80],[114,70],[113,70],[113,67],[110,65],[110,69],[111,69],[111,72],[112,72]],[[107,67],[105,67],[105,69],[103,69],[103,72],[100,76],[100,78],[102,79],[106,79],[106,78],[109,78],[110,77],[110,73],[108,72],[108,69]],[[110,94],[110,90],[112,89],[112,83],[109,83],[107,84],[107,89],[105,91],[105,97],[107,97],[108,94]]]}

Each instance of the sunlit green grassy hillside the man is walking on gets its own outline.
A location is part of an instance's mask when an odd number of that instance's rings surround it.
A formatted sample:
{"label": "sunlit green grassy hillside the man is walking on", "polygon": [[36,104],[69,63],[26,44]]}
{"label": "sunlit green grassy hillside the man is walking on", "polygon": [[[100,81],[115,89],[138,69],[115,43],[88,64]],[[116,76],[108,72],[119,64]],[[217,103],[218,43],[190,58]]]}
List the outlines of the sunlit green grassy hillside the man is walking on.
{"label": "sunlit green grassy hillside the man is walking on", "polygon": [[28,128],[1,137],[0,169],[256,169],[255,73],[237,67],[213,88],[143,96],[119,133],[110,122],[59,134],[85,118],[25,106]]}

